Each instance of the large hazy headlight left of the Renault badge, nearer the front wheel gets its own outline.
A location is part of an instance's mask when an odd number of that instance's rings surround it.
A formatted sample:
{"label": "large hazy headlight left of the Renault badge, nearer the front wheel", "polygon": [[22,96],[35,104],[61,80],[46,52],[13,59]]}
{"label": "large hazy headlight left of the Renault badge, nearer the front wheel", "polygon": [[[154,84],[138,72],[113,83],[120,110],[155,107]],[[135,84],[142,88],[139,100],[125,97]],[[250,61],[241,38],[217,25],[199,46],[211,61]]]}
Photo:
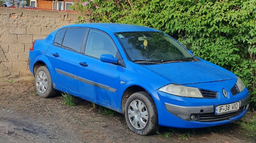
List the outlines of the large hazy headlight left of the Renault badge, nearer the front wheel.
{"label": "large hazy headlight left of the Renault badge, nearer the front wheel", "polygon": [[195,87],[169,84],[158,90],[181,97],[203,98],[200,90]]}

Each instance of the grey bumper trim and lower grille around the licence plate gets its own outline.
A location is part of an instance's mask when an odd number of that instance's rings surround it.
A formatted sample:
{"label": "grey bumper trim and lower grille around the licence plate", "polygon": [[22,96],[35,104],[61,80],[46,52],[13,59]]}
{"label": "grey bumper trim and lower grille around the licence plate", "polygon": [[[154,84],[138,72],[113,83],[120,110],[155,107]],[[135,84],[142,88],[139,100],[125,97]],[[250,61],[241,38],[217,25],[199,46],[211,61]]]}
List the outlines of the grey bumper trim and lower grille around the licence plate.
{"label": "grey bumper trim and lower grille around the licence plate", "polygon": [[[178,105],[169,104],[169,103],[164,103],[164,104],[165,104],[165,108],[170,113],[172,113],[186,121],[191,121],[191,116],[193,115],[192,121],[212,122],[212,121],[225,120],[227,118],[236,116],[237,114],[241,113],[245,109],[248,109],[249,103],[250,103],[249,97],[247,97],[239,102],[240,102],[240,110],[239,111],[231,112],[229,114],[222,115],[222,116],[214,115],[214,112],[215,112],[214,105],[178,106]],[[203,116],[202,120],[200,120],[200,115]]]}

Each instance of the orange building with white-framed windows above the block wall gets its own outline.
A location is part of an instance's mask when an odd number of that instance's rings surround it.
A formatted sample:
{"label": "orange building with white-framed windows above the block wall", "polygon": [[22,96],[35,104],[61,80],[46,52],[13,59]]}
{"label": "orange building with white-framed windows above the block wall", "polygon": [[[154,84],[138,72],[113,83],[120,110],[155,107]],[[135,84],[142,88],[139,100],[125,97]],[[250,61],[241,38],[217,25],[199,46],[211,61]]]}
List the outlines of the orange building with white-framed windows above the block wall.
{"label": "orange building with white-framed windows above the block wall", "polygon": [[47,1],[47,0],[30,0],[30,6],[38,9],[51,9],[51,10],[72,10],[70,6],[74,5],[74,2],[79,0],[59,0],[59,1]]}

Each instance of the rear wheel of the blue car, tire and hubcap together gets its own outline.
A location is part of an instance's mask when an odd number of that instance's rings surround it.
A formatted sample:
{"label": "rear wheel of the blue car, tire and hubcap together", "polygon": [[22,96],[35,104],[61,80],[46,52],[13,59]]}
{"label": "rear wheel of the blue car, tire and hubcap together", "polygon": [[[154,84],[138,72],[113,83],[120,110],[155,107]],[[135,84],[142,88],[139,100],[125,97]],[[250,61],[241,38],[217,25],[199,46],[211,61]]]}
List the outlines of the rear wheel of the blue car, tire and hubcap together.
{"label": "rear wheel of the blue car, tire and hubcap together", "polygon": [[42,98],[55,97],[57,90],[53,88],[52,78],[46,66],[40,66],[35,74],[35,86],[38,95]]}

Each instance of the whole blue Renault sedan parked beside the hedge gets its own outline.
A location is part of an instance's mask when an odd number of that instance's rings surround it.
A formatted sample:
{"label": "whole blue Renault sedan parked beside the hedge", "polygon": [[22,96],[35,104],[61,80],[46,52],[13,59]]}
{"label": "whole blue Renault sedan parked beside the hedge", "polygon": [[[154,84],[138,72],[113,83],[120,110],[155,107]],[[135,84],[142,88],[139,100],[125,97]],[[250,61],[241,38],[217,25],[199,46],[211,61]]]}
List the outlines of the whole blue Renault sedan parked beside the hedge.
{"label": "whole blue Renault sedan parked beside the hedge", "polygon": [[147,27],[86,23],[59,28],[32,43],[29,68],[39,96],[53,97],[59,90],[123,113],[127,126],[140,135],[159,126],[231,123],[249,106],[239,77]]}

